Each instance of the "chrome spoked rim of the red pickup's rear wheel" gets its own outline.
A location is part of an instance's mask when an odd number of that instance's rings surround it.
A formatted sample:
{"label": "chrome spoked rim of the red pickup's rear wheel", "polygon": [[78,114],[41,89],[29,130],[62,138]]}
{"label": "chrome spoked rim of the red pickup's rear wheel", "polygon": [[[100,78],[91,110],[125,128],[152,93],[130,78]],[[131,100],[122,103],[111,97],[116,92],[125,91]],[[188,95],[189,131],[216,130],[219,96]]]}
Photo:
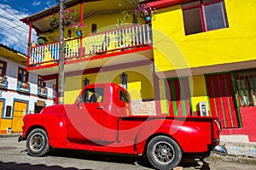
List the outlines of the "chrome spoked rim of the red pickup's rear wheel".
{"label": "chrome spoked rim of the red pickup's rear wheel", "polygon": [[166,142],[158,142],[154,144],[153,156],[156,161],[168,164],[174,159],[174,150],[171,144]]}

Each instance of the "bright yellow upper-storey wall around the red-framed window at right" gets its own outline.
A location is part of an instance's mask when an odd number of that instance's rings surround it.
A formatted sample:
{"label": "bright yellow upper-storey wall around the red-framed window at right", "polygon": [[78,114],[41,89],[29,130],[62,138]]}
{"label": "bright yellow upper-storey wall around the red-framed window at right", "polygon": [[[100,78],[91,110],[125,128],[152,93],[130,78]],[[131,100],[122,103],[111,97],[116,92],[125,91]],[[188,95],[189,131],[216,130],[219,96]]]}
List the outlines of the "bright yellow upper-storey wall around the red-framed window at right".
{"label": "bright yellow upper-storey wall around the red-framed window at right", "polygon": [[[256,58],[253,0],[224,1],[229,28],[185,36],[181,5],[157,11],[153,20],[154,62],[158,71],[220,65]],[[161,41],[160,41],[161,40]],[[165,61],[165,62],[163,62]]]}

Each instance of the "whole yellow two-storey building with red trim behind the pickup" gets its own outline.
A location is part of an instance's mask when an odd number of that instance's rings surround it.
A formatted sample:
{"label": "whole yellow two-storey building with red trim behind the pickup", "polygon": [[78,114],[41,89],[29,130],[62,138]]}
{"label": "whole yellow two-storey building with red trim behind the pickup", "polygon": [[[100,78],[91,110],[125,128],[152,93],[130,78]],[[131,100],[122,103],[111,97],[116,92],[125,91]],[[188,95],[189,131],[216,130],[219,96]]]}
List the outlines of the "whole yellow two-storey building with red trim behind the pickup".
{"label": "whole yellow two-storey building with red trim behind the pickup", "polygon": [[[256,113],[253,0],[139,4],[151,7],[151,20],[135,15],[137,5],[123,0],[65,3],[66,10],[75,11],[73,21],[87,26],[81,37],[77,27],[64,29],[65,103],[73,103],[87,83],[116,82],[131,93],[135,115],[218,116],[224,135],[255,142],[256,129],[248,126]],[[59,29],[50,22],[58,10],[56,6],[21,19],[48,39],[29,47],[26,69],[55,84]]]}

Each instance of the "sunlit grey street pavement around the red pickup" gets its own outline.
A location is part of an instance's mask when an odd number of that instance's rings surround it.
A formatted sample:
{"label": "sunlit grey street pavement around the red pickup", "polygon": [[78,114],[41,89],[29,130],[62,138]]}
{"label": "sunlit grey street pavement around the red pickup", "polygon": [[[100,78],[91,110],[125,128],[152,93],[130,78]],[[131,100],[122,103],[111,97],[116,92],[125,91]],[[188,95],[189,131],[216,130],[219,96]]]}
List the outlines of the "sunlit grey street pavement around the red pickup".
{"label": "sunlit grey street pavement around the red pickup", "polygon": [[[26,152],[26,142],[17,142],[18,137],[0,138],[0,169],[35,169],[35,170],[146,170],[153,169],[145,156],[128,156],[83,150],[53,150],[50,156],[32,157]],[[183,170],[252,170],[256,161],[238,163],[235,159],[210,156],[204,161],[184,159],[179,167]],[[243,161],[245,162],[245,161]],[[254,164],[252,164],[254,163]]]}

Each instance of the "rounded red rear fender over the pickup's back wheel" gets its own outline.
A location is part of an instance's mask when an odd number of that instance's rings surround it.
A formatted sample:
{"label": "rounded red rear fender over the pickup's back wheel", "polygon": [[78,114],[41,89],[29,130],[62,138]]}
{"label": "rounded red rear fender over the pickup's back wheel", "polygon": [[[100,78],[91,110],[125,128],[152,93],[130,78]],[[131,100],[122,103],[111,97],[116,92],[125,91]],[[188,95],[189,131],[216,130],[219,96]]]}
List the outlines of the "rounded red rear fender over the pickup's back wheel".
{"label": "rounded red rear fender over the pickup's back wheel", "polygon": [[166,135],[174,139],[183,152],[204,152],[208,150],[206,135],[196,122],[179,120],[149,120],[140,128],[135,140],[135,150],[143,154],[146,144],[157,135]]}

